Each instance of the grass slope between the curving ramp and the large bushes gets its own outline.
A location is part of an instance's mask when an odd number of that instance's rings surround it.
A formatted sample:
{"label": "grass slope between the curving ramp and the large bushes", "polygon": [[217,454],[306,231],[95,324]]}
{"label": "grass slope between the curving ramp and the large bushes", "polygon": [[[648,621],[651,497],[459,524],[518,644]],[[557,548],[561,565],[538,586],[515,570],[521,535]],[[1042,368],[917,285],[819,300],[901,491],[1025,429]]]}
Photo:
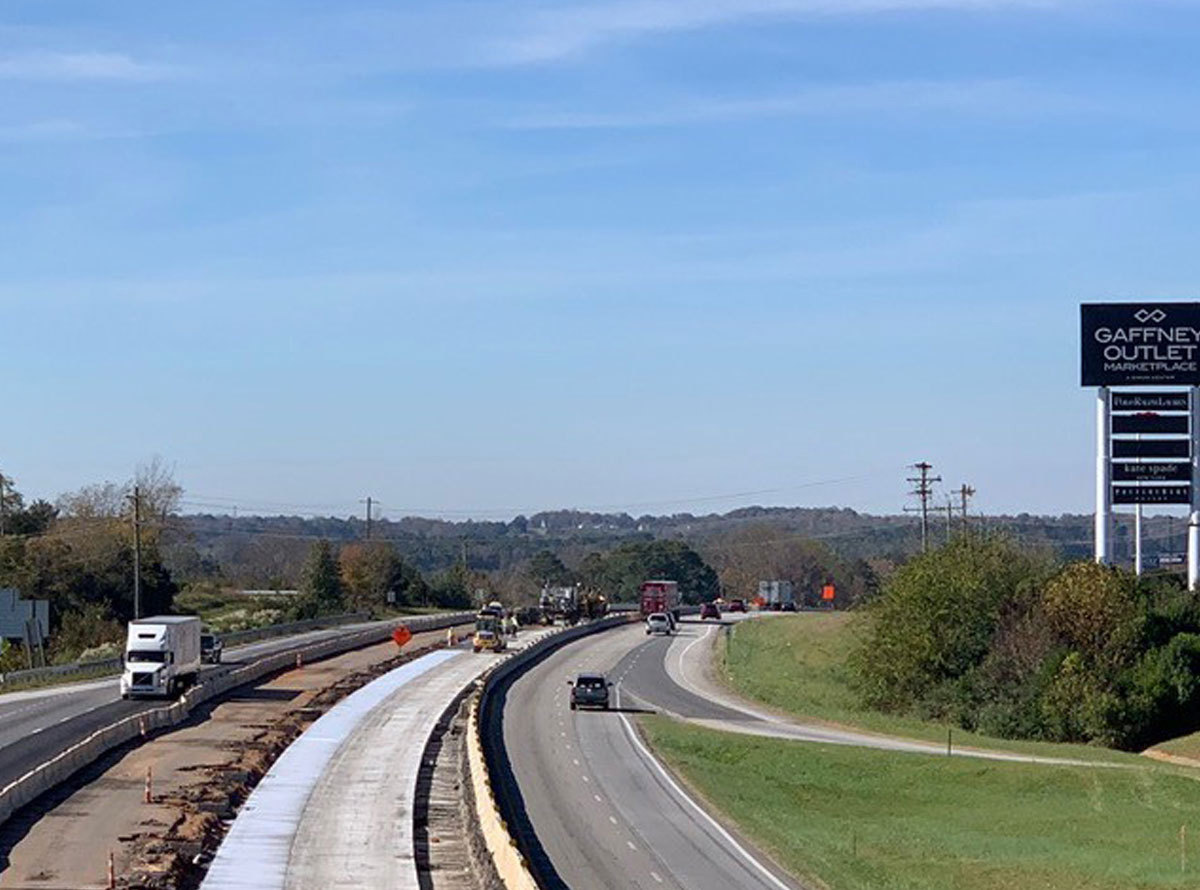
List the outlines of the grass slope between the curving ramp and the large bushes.
{"label": "grass slope between the curving ramp and the large bushes", "polygon": [[[947,726],[862,706],[847,659],[858,641],[857,617],[846,612],[772,615],[737,624],[718,645],[719,673],[739,694],[808,720],[886,735],[946,742]],[[1043,757],[1138,763],[1140,758],[1088,745],[996,739],[953,730],[955,746],[988,747]]]}

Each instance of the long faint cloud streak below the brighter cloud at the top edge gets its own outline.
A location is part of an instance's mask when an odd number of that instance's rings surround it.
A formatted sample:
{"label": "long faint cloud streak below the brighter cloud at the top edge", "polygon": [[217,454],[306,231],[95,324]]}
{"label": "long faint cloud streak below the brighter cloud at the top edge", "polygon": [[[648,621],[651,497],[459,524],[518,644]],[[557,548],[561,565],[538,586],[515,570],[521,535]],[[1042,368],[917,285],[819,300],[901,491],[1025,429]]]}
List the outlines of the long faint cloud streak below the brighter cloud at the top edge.
{"label": "long faint cloud streak below the brighter cloud at the top edge", "polygon": [[827,84],[766,98],[683,102],[622,112],[540,112],[508,122],[514,130],[635,130],[757,118],[803,115],[961,112],[1030,115],[1084,110],[1091,100],[1048,90],[1024,80],[888,80]]}

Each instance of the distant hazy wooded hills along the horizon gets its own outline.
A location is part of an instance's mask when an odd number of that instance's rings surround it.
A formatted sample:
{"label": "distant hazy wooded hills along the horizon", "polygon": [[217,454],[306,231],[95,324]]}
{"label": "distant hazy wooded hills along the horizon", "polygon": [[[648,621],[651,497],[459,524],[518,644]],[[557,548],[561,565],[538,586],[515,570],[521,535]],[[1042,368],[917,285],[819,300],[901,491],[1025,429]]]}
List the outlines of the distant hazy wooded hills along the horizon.
{"label": "distant hazy wooded hills along the horizon", "polygon": [[[961,521],[955,518],[958,525]],[[1003,530],[1030,547],[1048,547],[1069,559],[1091,553],[1088,515],[970,517],[988,529]],[[823,541],[845,559],[901,560],[920,547],[920,522],[911,515],[872,516],[842,507],[743,507],[727,513],[640,516],[556,510],[518,516],[510,522],[476,522],[406,517],[372,523],[371,535],[392,542],[401,555],[422,572],[438,571],[463,558],[472,569],[504,571],[548,549],[568,564],[593,551],[610,549],[631,539],[683,539],[701,552],[727,534],[750,525],[769,525],[780,535]],[[248,587],[293,587],[296,572],[314,540],[361,541],[361,518],[296,516],[180,517],[170,536],[172,569],[181,581],[223,578]],[[1152,517],[1146,521],[1145,552],[1153,559],[1181,552],[1186,521]],[[930,537],[946,537],[946,515],[932,515]],[[1116,530],[1117,558],[1130,558],[1132,522]]]}

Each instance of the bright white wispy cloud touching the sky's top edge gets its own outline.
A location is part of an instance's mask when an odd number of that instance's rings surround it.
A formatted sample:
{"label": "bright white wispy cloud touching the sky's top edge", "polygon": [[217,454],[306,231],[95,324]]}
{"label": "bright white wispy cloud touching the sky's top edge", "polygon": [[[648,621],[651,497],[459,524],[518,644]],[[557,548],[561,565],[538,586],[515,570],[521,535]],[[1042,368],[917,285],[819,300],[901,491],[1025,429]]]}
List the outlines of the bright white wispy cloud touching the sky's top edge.
{"label": "bright white wispy cloud touching the sky's top edge", "polygon": [[496,62],[533,64],[622,40],[738,22],[884,12],[1048,8],[1072,0],[614,0],[569,4],[532,14],[515,36],[493,42]]}

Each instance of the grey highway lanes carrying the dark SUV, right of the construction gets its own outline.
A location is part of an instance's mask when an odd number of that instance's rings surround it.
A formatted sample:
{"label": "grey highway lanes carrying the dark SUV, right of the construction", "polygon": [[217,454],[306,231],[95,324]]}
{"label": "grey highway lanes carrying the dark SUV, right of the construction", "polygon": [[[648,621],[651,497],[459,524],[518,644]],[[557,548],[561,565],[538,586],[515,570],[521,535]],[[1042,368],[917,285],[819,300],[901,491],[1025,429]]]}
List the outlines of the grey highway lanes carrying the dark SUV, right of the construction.
{"label": "grey highway lanes carrying the dark SUV, right of the construction", "polygon": [[[565,890],[790,890],[798,888],[746,838],[708,816],[650,756],[631,723],[637,705],[707,720],[744,718],[679,687],[664,659],[679,637],[623,627],[556,651],[517,679],[504,740],[547,888]],[[566,681],[600,670],[618,706],[571,711]]]}

